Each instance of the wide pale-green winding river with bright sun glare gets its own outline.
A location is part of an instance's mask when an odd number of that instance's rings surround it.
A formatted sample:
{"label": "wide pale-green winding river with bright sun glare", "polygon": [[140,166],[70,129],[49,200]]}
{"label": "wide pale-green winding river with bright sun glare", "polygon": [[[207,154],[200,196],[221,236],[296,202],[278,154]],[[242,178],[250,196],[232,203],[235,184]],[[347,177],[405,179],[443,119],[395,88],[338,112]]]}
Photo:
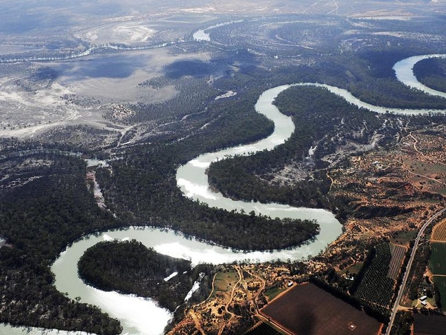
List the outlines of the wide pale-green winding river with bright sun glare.
{"label": "wide pale-green winding river with bright sun glare", "polygon": [[[394,69],[397,73],[397,78],[412,86],[413,78],[410,77],[412,73],[413,64],[424,58],[429,57],[445,57],[445,55],[429,55],[418,56],[422,58],[408,58],[398,62]],[[409,59],[411,59],[409,61]],[[418,60],[416,60],[418,59]],[[406,61],[406,62],[405,62]],[[413,76],[413,73],[412,73]],[[410,82],[405,82],[411,78]],[[395,111],[396,113],[427,113],[426,110],[412,111],[412,110],[395,110],[394,108],[382,108],[368,104],[364,104],[355,97],[349,95],[345,90],[338,89],[334,86],[323,84],[303,83],[305,85],[324,86],[329,91],[344,97],[347,101],[369,108],[379,113],[385,111]],[[67,292],[72,299],[80,297],[82,302],[98,305],[102,310],[108,312],[111,316],[117,317],[124,327],[123,334],[162,334],[163,328],[167,325],[171,314],[169,311],[159,308],[156,302],[151,299],[141,299],[131,295],[118,294],[116,292],[103,292],[90,286],[86,286],[77,274],[78,259],[84,251],[102,240],[112,239],[135,239],[141,241],[148,247],[153,247],[159,253],[170,255],[173,257],[183,257],[190,259],[193,263],[209,262],[212,264],[222,264],[233,261],[248,260],[249,262],[267,262],[275,259],[302,259],[309,255],[316,255],[321,250],[325,249],[327,244],[333,242],[341,233],[341,226],[339,222],[333,217],[329,211],[322,209],[307,209],[295,208],[284,205],[264,205],[261,203],[244,203],[240,201],[233,201],[222,197],[220,193],[211,192],[207,183],[207,176],[205,174],[206,168],[211,161],[224,159],[224,157],[234,154],[248,154],[258,150],[270,150],[281,143],[283,143],[294,131],[294,124],[289,117],[282,115],[275,106],[271,104],[274,97],[281,91],[287,89],[289,85],[278,86],[268,91],[263,92],[256,104],[256,110],[263,113],[266,117],[272,119],[275,124],[274,132],[267,139],[263,139],[257,143],[246,146],[237,146],[203,154],[186,165],[183,165],[177,172],[178,186],[183,190],[186,196],[208,203],[210,206],[218,206],[224,209],[236,209],[245,212],[251,210],[257,213],[272,217],[287,217],[287,218],[308,218],[316,219],[320,224],[320,234],[314,242],[299,248],[283,251],[269,252],[248,252],[231,251],[224,249],[221,246],[215,246],[204,242],[199,242],[194,239],[185,238],[180,233],[170,231],[167,229],[154,229],[148,227],[131,227],[121,231],[107,231],[99,235],[90,235],[79,242],[75,242],[67,251],[64,251],[56,260],[51,270],[56,275],[56,288],[60,292]],[[423,89],[423,85],[416,86]],[[424,90],[424,89],[423,89]],[[430,90],[430,94],[436,94],[434,90]],[[440,92],[441,93],[441,92]],[[442,96],[444,96],[441,93]],[[440,94],[438,94],[440,95]],[[441,111],[444,113],[444,111]],[[9,325],[0,325],[1,334],[85,334],[82,332],[59,332],[57,330],[41,330],[30,327],[10,327]]]}

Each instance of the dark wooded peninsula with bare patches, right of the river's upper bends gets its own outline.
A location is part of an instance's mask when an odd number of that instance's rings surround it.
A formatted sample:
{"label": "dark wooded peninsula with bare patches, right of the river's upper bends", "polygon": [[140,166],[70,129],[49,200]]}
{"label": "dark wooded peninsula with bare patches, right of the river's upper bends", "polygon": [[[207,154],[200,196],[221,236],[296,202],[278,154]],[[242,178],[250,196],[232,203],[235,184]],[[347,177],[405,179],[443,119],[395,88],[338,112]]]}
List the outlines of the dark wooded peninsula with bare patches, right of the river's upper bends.
{"label": "dark wooded peninsula with bare patches, right of the river's upper bends", "polygon": [[320,158],[332,153],[340,141],[368,143],[373,132],[382,126],[382,120],[375,113],[360,110],[326,89],[315,87],[291,87],[279,94],[275,104],[292,117],[296,127],[292,137],[271,151],[212,163],[209,183],[233,198],[328,207],[329,181],[325,174],[316,174],[311,181],[294,180],[282,185],[270,181],[271,174],[285,165],[312,170],[304,157],[315,144],[316,167],[324,167],[326,163]]}

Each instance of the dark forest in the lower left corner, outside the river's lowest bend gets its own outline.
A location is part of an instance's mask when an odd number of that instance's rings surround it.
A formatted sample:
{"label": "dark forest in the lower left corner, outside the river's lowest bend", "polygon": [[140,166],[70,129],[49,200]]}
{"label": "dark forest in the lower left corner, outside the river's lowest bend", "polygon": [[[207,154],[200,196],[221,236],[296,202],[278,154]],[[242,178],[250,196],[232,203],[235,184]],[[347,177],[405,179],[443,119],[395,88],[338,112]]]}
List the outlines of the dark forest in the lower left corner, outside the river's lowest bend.
{"label": "dark forest in the lower left corner, outside the river's lowest bend", "polygon": [[0,182],[0,231],[12,244],[0,249],[0,321],[119,334],[117,320],[58,292],[49,270],[70,242],[120,225],[87,190],[84,162],[32,154],[0,161],[0,168],[9,176]]}

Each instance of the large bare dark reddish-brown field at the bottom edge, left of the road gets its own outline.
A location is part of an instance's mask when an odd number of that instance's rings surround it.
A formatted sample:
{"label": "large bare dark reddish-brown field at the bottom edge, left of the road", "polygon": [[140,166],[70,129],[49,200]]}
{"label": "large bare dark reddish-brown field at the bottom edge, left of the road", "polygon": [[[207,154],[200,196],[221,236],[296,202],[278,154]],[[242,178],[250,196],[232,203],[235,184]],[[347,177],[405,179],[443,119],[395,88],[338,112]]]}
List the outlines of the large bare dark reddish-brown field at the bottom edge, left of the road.
{"label": "large bare dark reddish-brown field at the bottom edge, left of the road", "polygon": [[295,286],[261,313],[292,334],[377,334],[381,325],[313,284]]}

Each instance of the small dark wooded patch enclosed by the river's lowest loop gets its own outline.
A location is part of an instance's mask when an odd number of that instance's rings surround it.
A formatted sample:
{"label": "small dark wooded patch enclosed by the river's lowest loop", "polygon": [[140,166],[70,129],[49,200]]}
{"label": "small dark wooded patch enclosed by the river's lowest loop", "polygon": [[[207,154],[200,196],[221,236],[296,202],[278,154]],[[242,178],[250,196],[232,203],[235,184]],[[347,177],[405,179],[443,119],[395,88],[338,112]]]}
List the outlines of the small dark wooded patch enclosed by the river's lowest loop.
{"label": "small dark wooded patch enclosed by the river's lowest loop", "polygon": [[[184,303],[200,273],[209,273],[213,266],[191,268],[185,259],[160,255],[133,240],[95,244],[82,255],[78,269],[84,281],[100,290],[150,297],[174,311]],[[165,281],[172,273],[177,275]]]}

